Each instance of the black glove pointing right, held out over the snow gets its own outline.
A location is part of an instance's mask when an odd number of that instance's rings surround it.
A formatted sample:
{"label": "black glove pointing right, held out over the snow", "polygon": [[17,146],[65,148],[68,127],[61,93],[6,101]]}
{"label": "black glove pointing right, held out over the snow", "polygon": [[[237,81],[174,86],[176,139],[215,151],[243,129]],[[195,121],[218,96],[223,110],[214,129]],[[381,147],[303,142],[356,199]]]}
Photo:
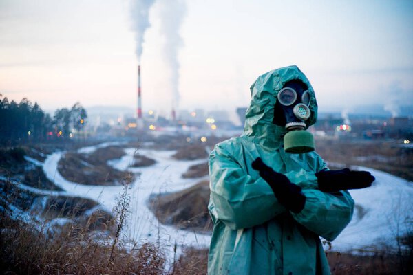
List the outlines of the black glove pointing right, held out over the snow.
{"label": "black glove pointing right, held out over the snow", "polygon": [[372,186],[374,177],[367,171],[322,170],[315,173],[322,192],[339,192],[340,190],[361,189]]}

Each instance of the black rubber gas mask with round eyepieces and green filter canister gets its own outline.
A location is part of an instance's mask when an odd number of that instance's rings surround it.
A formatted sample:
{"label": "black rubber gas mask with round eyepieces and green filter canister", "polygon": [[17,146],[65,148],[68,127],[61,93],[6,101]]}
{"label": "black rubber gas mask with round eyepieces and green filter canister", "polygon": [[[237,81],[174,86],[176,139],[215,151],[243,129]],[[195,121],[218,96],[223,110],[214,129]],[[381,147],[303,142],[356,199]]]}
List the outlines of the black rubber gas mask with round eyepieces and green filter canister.
{"label": "black rubber gas mask with round eyepieces and green filter canister", "polygon": [[274,109],[274,123],[285,127],[284,151],[287,153],[308,153],[314,151],[315,143],[307,129],[310,118],[310,92],[299,80],[289,81],[279,91]]}

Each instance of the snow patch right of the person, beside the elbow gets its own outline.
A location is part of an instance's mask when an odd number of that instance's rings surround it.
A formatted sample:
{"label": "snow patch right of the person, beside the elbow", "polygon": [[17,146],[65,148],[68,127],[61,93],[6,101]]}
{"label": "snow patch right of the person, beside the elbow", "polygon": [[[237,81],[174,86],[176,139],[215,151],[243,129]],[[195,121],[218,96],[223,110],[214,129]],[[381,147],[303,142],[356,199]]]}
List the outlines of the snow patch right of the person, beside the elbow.
{"label": "snow patch right of the person, beside the elbow", "polygon": [[332,242],[338,251],[396,248],[396,239],[413,232],[413,183],[372,168],[376,180],[370,188],[350,190],[356,203],[350,224]]}

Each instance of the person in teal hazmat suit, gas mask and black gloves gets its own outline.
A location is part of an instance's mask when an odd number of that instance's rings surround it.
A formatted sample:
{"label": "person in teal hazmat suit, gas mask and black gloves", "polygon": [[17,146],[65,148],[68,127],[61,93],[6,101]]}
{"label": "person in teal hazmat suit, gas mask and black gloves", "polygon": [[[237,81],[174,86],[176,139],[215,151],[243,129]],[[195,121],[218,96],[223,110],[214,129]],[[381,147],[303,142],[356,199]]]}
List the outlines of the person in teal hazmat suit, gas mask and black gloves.
{"label": "person in teal hazmat suit, gas mask and black gloves", "polygon": [[313,87],[297,66],[253,83],[244,133],[209,157],[209,274],[330,274],[319,236],[339,235],[353,214],[347,190],[374,177],[328,170],[305,131],[316,119]]}

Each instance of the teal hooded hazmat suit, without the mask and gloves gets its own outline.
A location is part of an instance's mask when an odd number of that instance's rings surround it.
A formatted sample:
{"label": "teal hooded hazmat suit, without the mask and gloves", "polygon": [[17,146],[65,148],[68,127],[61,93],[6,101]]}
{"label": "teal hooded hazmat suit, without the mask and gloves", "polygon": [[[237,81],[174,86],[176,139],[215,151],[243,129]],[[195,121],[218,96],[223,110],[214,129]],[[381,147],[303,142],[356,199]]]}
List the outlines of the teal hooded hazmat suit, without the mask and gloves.
{"label": "teal hooded hazmat suit, without the mask and gloves", "polygon": [[[209,157],[213,234],[209,274],[330,274],[319,236],[335,239],[352,218],[347,191],[318,190],[315,173],[326,169],[317,153],[284,151],[286,130],[273,124],[277,93],[290,80],[310,91],[311,116],[317,119],[313,87],[297,66],[263,74],[251,86],[244,133],[215,145]],[[277,201],[270,186],[251,168],[260,157],[273,170],[301,186],[304,209],[293,213]]]}

